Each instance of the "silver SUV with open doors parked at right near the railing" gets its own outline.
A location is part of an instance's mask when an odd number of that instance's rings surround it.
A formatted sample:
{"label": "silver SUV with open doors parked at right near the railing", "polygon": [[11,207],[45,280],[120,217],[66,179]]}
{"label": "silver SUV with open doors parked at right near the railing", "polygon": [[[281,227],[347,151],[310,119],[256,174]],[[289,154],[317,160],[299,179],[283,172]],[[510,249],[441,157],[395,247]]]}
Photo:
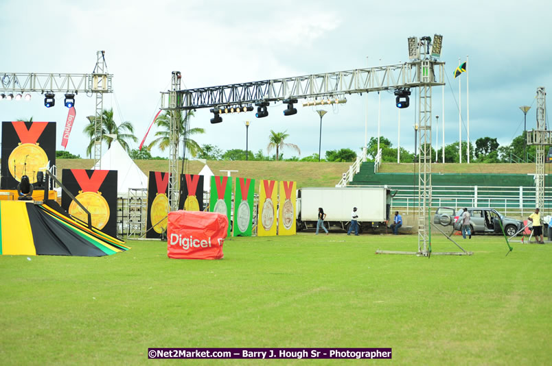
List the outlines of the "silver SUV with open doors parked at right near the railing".
{"label": "silver SUV with open doors parked at right near the railing", "polygon": [[[459,216],[464,212],[463,209],[456,211],[450,207],[439,207],[433,216],[433,222],[444,226],[452,225],[456,230],[461,230],[462,223]],[[470,212],[470,229],[472,234],[486,233],[502,233],[501,225],[498,220],[502,221],[504,231],[507,236],[513,236],[523,228],[523,222],[517,219],[511,219],[501,215],[494,208],[468,208]]]}

